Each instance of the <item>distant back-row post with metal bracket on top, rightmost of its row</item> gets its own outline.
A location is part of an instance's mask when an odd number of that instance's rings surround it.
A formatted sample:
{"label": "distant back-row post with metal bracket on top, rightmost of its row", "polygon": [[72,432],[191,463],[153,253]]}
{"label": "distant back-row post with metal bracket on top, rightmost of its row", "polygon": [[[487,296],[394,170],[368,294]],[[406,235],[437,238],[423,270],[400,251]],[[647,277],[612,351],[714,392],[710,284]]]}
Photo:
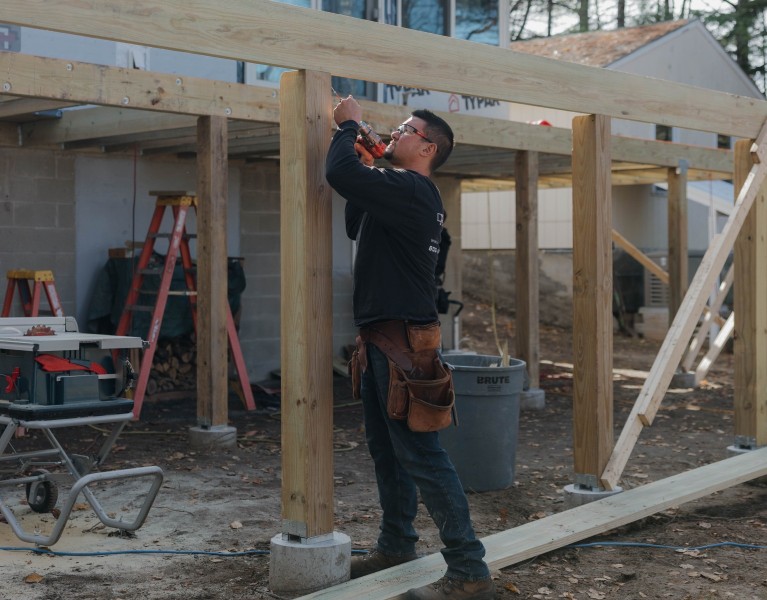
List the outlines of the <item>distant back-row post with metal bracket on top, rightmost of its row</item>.
{"label": "distant back-row post with metal bracket on top, rightmost of its row", "polygon": [[669,325],[687,293],[687,161],[668,170]]}

